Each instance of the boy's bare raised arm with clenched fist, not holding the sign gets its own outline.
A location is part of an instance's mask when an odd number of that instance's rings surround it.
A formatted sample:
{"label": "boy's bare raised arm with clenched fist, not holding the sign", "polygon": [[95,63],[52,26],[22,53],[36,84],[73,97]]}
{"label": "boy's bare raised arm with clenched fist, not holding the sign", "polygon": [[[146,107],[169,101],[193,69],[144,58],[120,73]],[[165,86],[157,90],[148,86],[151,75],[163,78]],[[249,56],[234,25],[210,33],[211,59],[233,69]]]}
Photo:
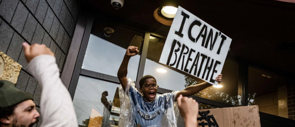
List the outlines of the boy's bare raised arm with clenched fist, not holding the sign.
{"label": "boy's bare raised arm with clenched fist, not holding the sign", "polygon": [[127,84],[127,68],[128,68],[128,63],[129,60],[132,56],[137,55],[137,53],[139,53],[139,51],[137,50],[138,47],[135,46],[129,46],[126,50],[126,54],[123,58],[122,64],[118,70],[118,79],[123,87],[123,89],[126,89],[126,84]]}

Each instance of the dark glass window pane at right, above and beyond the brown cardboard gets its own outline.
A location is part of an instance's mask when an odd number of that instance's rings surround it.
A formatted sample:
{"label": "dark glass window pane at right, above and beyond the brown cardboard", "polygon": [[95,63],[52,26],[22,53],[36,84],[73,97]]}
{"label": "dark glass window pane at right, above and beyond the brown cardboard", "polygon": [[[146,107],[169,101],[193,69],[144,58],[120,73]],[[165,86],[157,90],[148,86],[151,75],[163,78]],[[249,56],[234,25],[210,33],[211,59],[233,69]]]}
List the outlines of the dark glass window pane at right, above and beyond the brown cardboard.
{"label": "dark glass window pane at right, above and beyond the brown cardboard", "polygon": [[[249,67],[249,105],[258,105],[259,111],[288,118],[293,107],[288,105],[286,78]],[[291,113],[290,118],[293,119]]]}

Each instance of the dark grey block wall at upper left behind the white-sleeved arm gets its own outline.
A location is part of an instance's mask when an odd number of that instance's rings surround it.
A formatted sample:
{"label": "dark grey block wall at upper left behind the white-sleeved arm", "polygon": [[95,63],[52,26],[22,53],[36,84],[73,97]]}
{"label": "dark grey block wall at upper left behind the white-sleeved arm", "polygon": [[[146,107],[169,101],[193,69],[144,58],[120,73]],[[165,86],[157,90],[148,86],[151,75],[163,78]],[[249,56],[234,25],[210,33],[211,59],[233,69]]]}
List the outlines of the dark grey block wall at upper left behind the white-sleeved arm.
{"label": "dark grey block wall at upper left behind the white-sleeved arm", "polygon": [[[21,64],[15,87],[31,93],[39,110],[40,87],[26,71],[22,42],[45,44],[60,72],[78,18],[78,0],[0,0],[0,51]],[[40,119],[41,120],[41,119]],[[39,122],[35,126],[40,126]]]}

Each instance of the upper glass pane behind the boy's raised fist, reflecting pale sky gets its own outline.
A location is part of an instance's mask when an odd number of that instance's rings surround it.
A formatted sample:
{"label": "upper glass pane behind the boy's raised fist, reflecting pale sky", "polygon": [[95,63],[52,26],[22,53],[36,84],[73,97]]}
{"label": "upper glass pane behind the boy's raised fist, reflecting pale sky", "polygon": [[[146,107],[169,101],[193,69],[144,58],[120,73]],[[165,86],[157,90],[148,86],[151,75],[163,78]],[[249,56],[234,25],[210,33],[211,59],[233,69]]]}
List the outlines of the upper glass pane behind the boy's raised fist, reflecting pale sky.
{"label": "upper glass pane behind the boy's raised fist, reflecting pale sky", "polygon": [[[101,20],[101,19],[100,19]],[[107,37],[104,29],[112,28],[114,32]],[[95,19],[89,37],[82,69],[117,76],[118,69],[128,46],[142,47],[144,33],[127,29],[109,22]],[[136,81],[140,53],[130,59],[128,75]]]}

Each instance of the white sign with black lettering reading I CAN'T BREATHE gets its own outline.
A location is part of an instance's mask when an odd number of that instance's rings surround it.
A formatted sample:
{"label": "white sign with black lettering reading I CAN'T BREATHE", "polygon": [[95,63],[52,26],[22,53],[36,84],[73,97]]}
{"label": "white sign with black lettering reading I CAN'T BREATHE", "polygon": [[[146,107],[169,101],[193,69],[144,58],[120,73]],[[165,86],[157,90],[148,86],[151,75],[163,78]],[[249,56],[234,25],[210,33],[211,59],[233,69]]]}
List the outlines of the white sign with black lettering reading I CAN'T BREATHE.
{"label": "white sign with black lettering reading I CAN'T BREATHE", "polygon": [[178,6],[159,62],[217,85],[231,41]]}

